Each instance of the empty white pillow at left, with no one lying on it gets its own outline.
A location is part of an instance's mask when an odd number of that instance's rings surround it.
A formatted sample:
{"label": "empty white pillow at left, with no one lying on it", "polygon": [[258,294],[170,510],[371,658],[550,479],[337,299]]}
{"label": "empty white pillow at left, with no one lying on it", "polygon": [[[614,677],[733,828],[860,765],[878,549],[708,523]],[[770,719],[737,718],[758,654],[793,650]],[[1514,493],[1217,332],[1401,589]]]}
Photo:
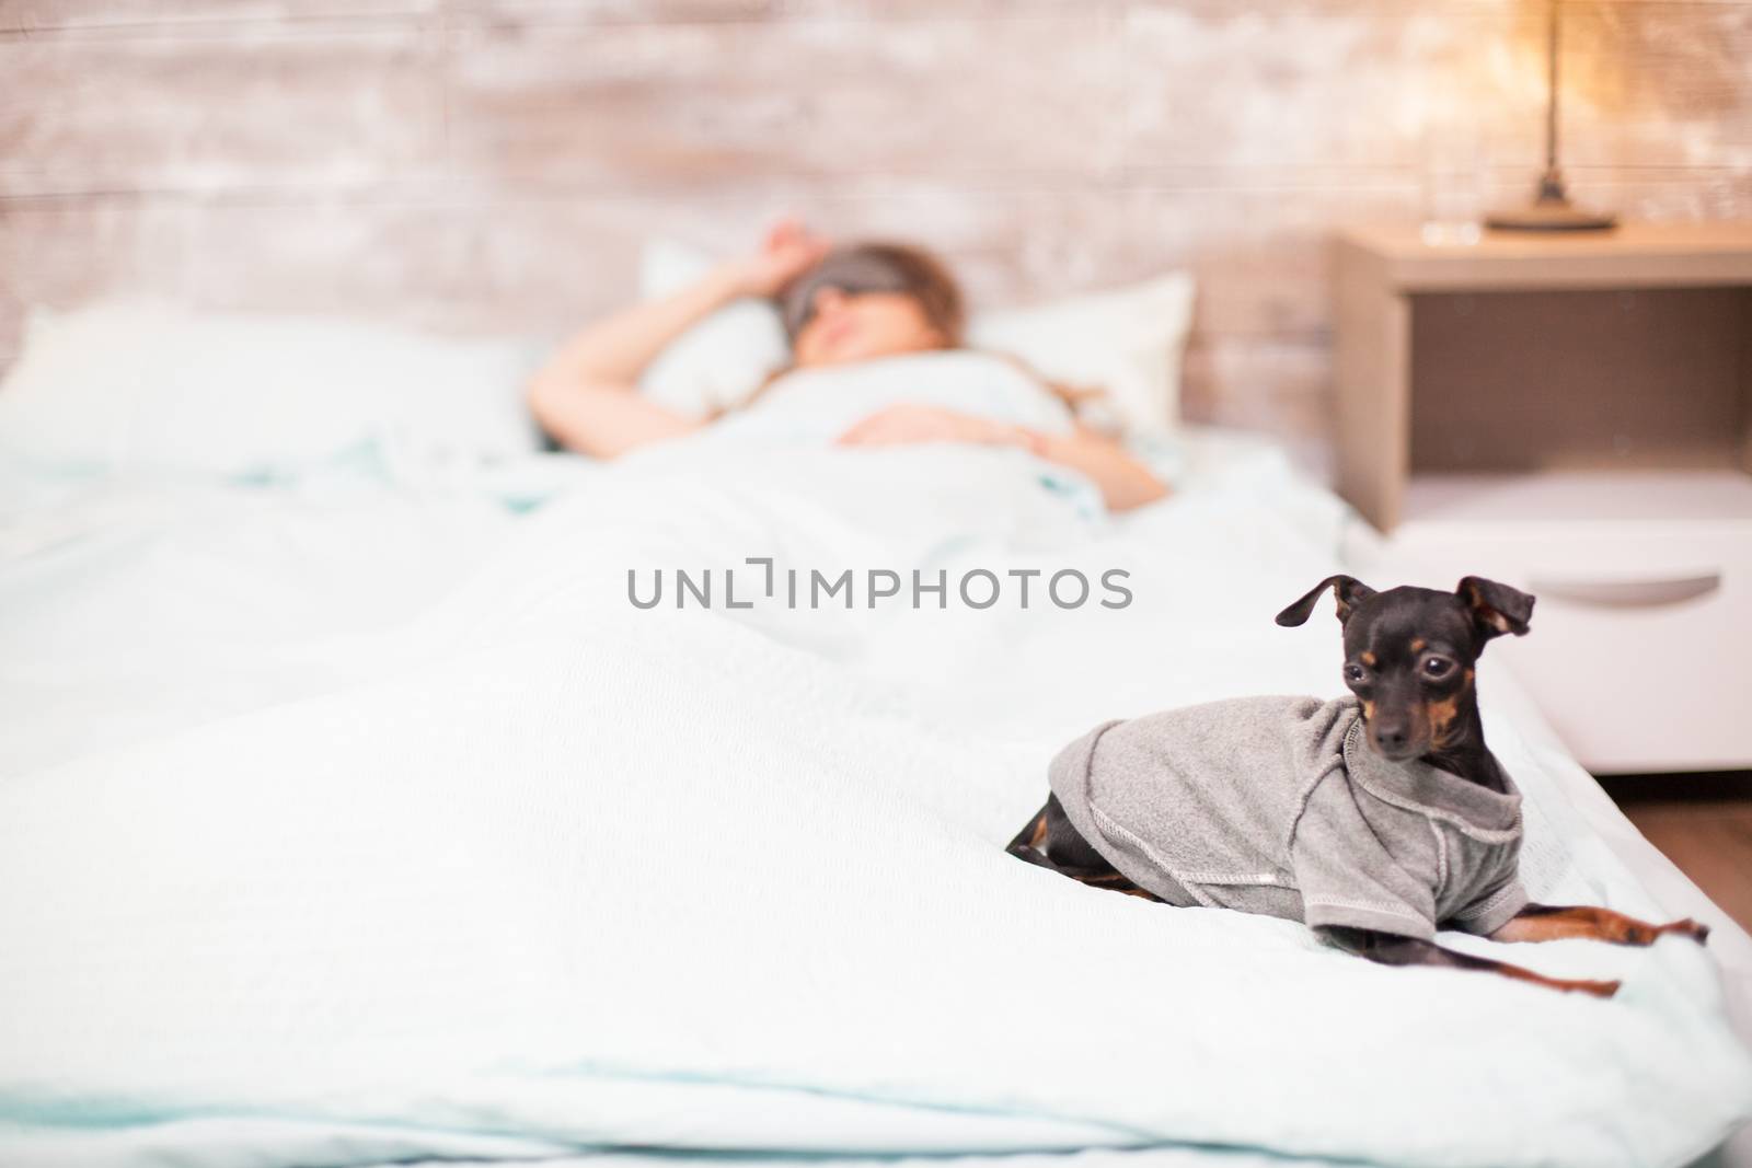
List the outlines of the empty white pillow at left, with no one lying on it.
{"label": "empty white pillow at left, with no one lying on it", "polygon": [[163,305],[32,312],[0,382],[0,448],[88,469],[237,475],[364,441],[492,461],[536,450],[536,354],[305,317]]}

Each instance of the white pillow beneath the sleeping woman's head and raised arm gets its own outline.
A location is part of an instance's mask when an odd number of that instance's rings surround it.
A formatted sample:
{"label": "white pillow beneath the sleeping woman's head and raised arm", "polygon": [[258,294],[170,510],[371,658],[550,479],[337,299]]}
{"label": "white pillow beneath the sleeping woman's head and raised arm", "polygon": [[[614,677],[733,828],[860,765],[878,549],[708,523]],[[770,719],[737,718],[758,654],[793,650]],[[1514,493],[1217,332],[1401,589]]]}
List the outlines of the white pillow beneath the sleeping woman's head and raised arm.
{"label": "white pillow beneath the sleeping woman's head and raised arm", "polygon": [[[683,243],[646,243],[641,296],[697,280],[711,259]],[[1181,352],[1191,326],[1193,278],[1184,271],[1144,284],[1030,308],[976,312],[967,345],[1011,354],[1072,387],[1104,389],[1128,429],[1179,420]],[[683,333],[652,362],[639,389],[685,413],[734,405],[788,359],[778,310],[745,299]]]}

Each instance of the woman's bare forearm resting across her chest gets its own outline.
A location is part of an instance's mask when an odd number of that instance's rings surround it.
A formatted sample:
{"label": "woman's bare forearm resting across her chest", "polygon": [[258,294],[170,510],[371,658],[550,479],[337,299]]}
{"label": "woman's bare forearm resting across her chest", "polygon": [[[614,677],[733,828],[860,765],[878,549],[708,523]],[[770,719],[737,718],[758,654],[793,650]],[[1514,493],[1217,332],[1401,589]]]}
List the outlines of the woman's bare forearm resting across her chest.
{"label": "woman's bare forearm resting across her chest", "polygon": [[937,406],[897,405],[872,413],[839,438],[844,447],[894,447],[920,441],[1021,447],[1035,457],[1084,475],[1100,490],[1109,511],[1130,511],[1169,494],[1162,480],[1134,459],[1125,447],[1083,426],[1070,434],[1046,434]]}

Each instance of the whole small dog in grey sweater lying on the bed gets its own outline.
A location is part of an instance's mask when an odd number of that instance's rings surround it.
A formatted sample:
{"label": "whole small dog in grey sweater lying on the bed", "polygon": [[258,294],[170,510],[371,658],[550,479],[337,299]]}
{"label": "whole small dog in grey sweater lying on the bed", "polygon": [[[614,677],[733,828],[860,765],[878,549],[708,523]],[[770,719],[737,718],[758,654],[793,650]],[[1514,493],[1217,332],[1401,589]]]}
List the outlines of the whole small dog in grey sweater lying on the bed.
{"label": "whole small dog in grey sweater lying on the bed", "polygon": [[1328,576],[1277,623],[1305,623],[1328,588],[1353,697],[1232,699],[1097,727],[1053,760],[1046,806],[1007,851],[1095,888],[1298,918],[1382,965],[1603,998],[1619,982],[1456,953],[1435,930],[1622,946],[1708,937],[1692,919],[1650,925],[1521,890],[1521,797],[1484,744],[1475,665],[1494,637],[1528,632],[1531,595],[1480,576],[1454,592]]}

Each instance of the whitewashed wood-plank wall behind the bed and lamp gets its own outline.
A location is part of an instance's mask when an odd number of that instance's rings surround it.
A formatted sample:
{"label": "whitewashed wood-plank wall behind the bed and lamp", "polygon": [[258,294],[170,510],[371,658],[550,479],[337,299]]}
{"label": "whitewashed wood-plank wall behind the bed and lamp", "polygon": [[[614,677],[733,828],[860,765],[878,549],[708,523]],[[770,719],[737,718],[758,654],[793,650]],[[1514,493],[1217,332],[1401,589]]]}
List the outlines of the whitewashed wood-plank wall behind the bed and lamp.
{"label": "whitewashed wood-plank wall behind the bed and lamp", "polygon": [[[1587,201],[1752,217],[1752,0],[1566,2]],[[1326,238],[1538,161],[1515,0],[0,0],[0,362],[163,294],[559,331],[795,210],[983,303],[1190,266],[1191,417],[1318,459]]]}

